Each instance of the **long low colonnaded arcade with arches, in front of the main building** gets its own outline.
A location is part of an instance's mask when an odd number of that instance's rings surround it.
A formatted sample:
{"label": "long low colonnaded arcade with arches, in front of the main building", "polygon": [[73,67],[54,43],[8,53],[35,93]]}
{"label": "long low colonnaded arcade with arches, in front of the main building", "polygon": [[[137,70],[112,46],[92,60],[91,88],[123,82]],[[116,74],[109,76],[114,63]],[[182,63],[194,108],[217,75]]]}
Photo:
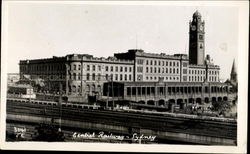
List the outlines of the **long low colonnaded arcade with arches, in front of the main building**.
{"label": "long low colonnaded arcade with arches, in front of the main building", "polygon": [[213,102],[233,101],[229,97],[229,84],[197,82],[107,82],[103,95],[107,102],[129,102],[130,106],[144,108],[174,107],[185,109],[198,106],[206,109]]}

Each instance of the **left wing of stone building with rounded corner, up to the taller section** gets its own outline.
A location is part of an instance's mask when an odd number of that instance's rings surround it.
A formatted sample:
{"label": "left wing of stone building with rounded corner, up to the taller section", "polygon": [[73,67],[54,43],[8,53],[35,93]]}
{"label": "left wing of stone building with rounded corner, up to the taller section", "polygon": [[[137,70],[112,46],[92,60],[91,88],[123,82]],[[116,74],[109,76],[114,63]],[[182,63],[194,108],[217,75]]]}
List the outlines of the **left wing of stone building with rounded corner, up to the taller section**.
{"label": "left wing of stone building with rounded corner, up to the taller section", "polygon": [[102,95],[103,82],[114,80],[132,82],[134,62],[113,57],[96,58],[86,54],[72,54],[49,59],[22,60],[21,80],[44,82],[42,91],[63,93],[75,100],[86,100],[88,95]]}

